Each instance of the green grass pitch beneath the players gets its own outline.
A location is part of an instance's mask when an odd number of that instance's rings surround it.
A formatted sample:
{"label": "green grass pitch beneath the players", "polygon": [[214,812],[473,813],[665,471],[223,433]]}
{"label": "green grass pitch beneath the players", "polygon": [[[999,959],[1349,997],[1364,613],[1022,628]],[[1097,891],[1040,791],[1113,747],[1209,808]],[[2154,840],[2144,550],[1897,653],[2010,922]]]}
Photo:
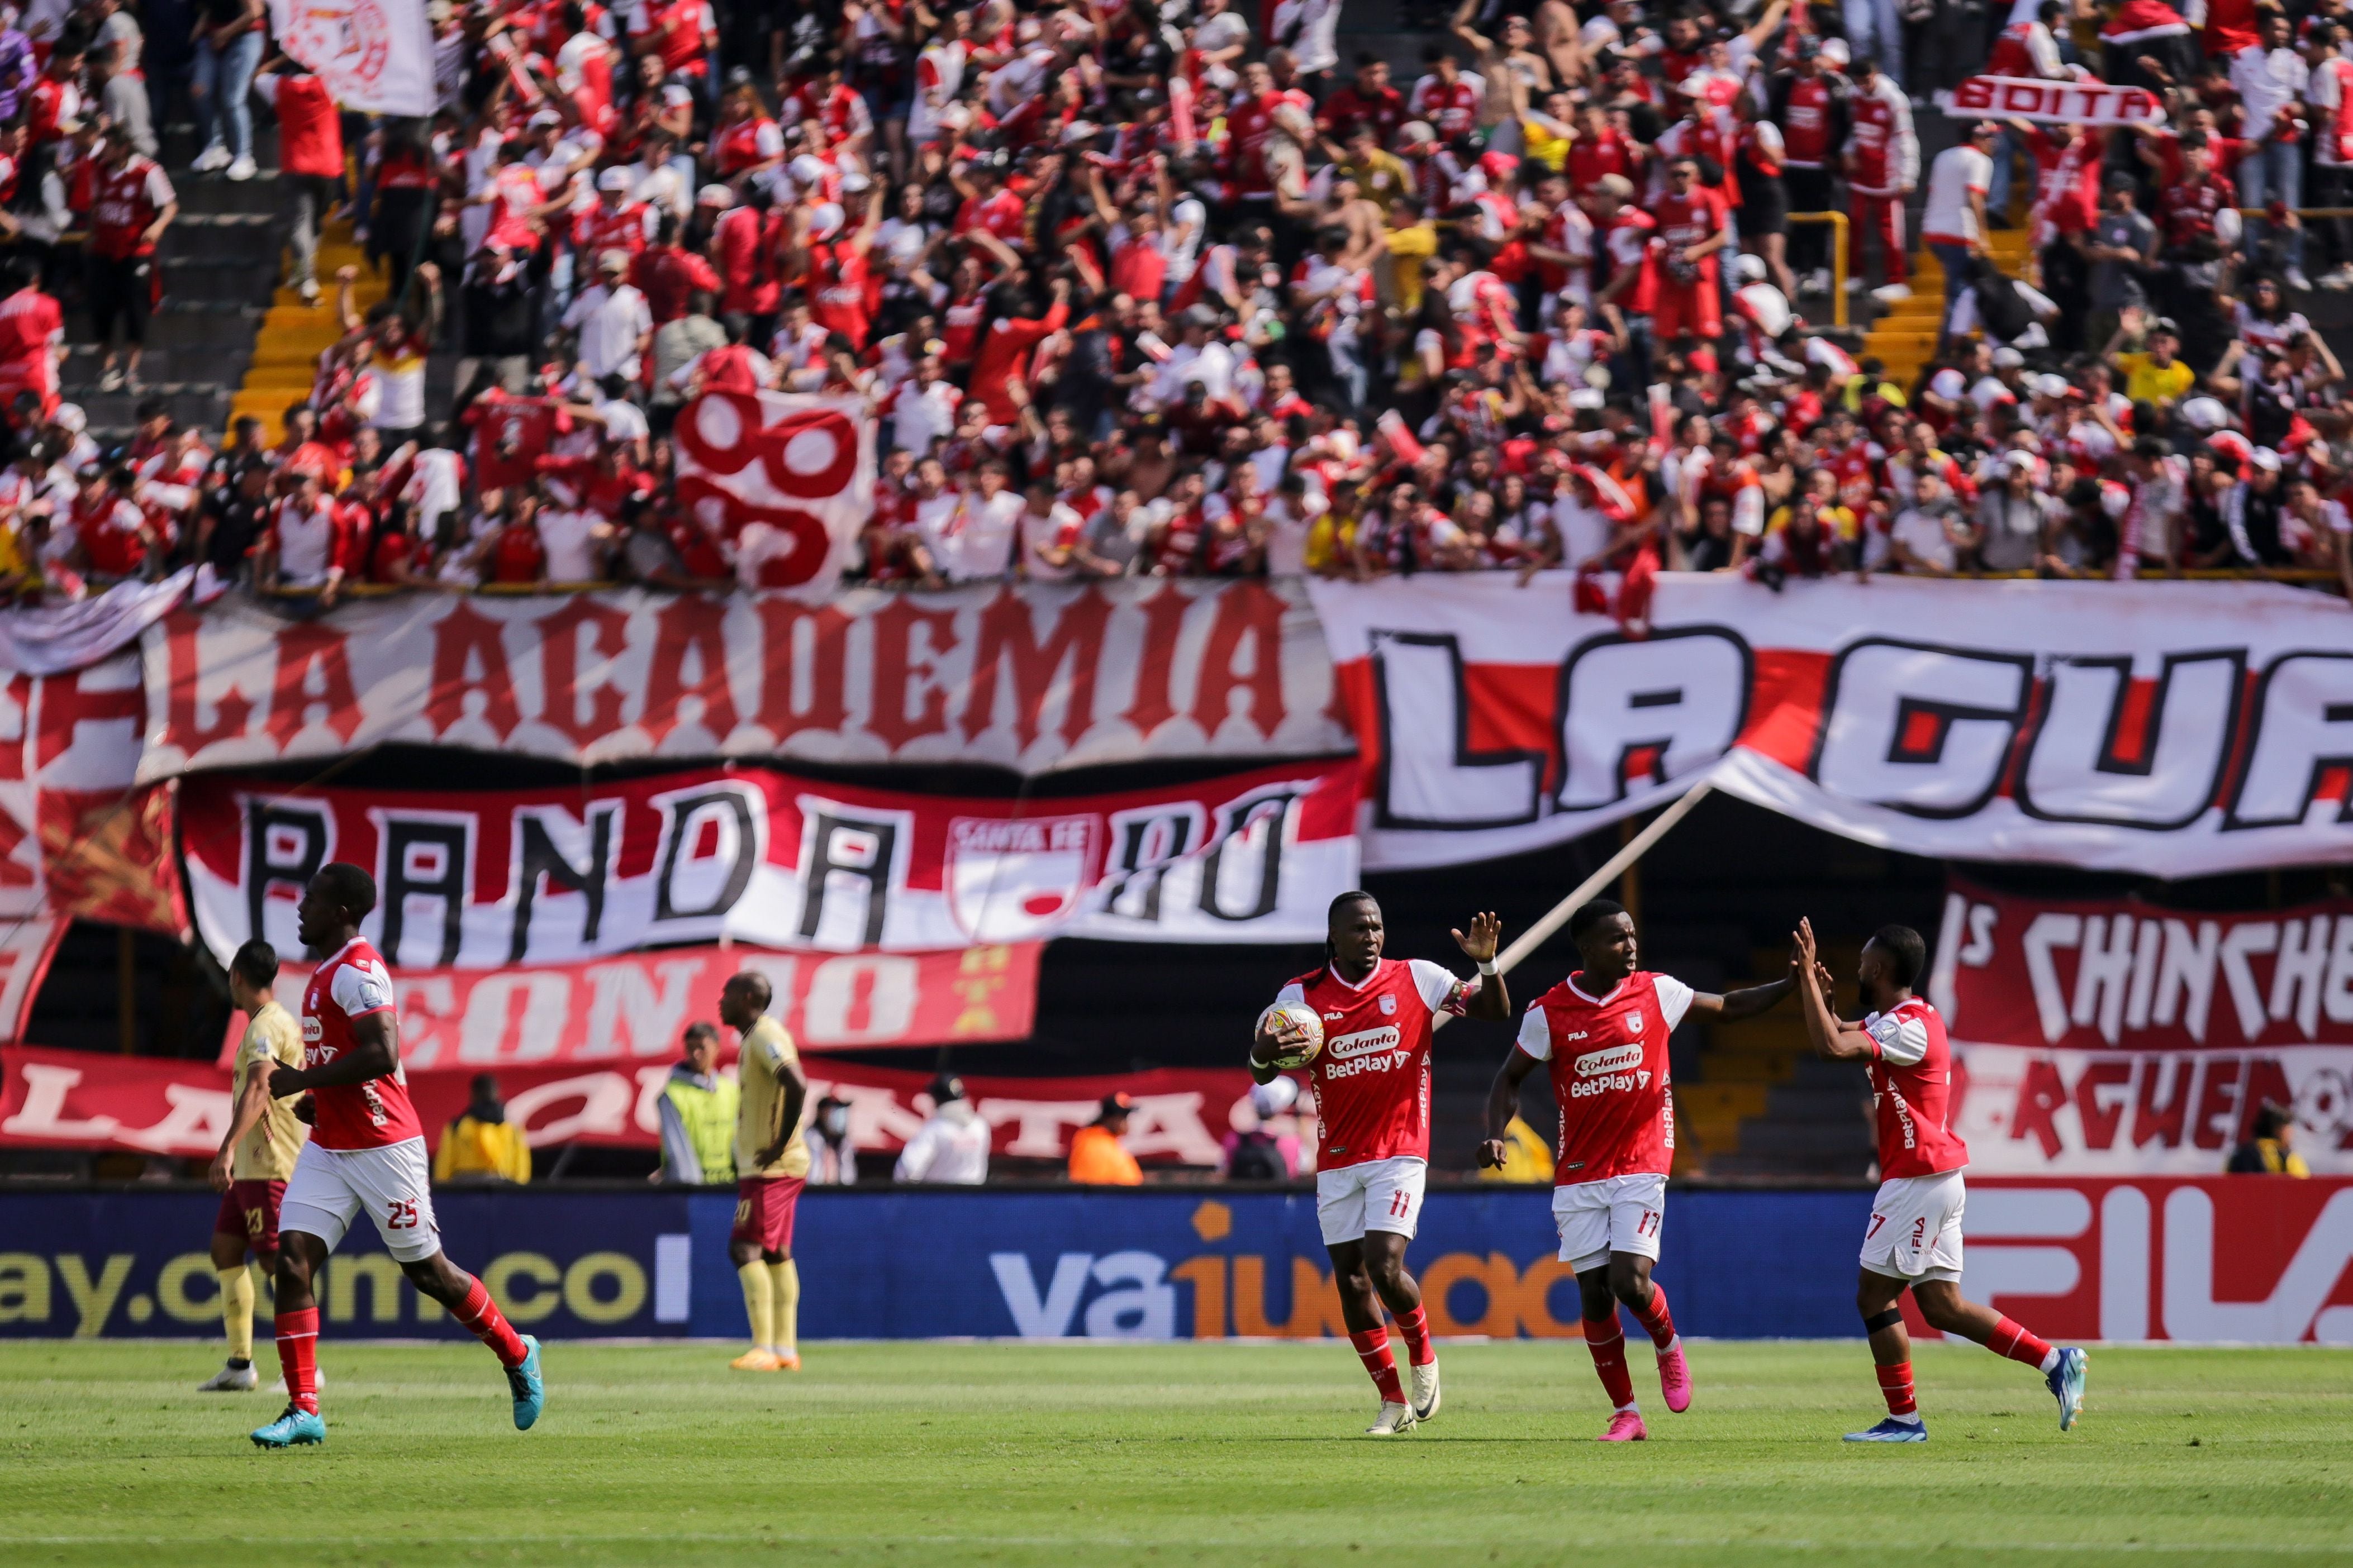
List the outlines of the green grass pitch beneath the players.
{"label": "green grass pitch beneath the players", "polygon": [[[266,1352],[266,1345],[264,1345]],[[0,1563],[2353,1561],[2353,1356],[1920,1347],[1925,1448],[1864,1448],[1861,1342],[1694,1342],[1699,1403],[1598,1446],[1581,1345],[1447,1345],[1445,1410],[1358,1436],[1346,1345],[551,1345],[508,1422],[471,1345],[320,1347],[325,1448],[191,1342],[0,1342]],[[1362,1556],[1358,1556],[1362,1554]]]}

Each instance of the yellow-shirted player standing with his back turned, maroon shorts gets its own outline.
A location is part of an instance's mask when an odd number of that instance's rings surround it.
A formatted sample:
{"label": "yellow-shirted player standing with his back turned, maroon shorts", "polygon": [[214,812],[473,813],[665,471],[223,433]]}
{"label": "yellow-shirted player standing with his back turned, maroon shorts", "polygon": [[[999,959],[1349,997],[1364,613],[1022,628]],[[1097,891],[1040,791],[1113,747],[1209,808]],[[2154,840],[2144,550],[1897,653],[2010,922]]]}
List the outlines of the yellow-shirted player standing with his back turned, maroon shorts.
{"label": "yellow-shirted player standing with his back turned, maroon shorts", "polygon": [[800,1269],[793,1267],[793,1208],[809,1178],[809,1145],[800,1112],[809,1079],[781,1023],[767,1016],[767,976],[744,971],[720,990],[720,1023],[744,1039],[736,1077],[736,1222],[727,1258],[744,1281],[751,1349],[729,1366],[739,1373],[800,1371]]}

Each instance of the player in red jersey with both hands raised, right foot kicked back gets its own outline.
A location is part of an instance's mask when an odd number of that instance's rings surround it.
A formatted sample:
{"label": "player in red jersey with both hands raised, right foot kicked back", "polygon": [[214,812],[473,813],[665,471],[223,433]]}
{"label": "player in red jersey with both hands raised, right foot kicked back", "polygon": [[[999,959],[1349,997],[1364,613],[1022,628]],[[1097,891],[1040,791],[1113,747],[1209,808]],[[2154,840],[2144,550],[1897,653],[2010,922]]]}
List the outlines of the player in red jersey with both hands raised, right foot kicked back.
{"label": "player in red jersey with both hands raised, right foot kicked back", "polygon": [[1993,1307],[1960,1295],[1960,1173],[1969,1147],[1946,1124],[1953,1093],[1953,1051],[1944,1018],[1913,994],[1927,966],[1927,943],[1911,926],[1880,926],[1864,945],[1857,983],[1864,992],[1861,1023],[1831,1011],[1831,971],[1814,954],[1814,926],[1798,922],[1798,994],[1805,1032],[1814,1051],[1833,1063],[1861,1063],[1871,1074],[1871,1112],[1880,1133],[1880,1192],[1871,1199],[1864,1229],[1864,1272],[1854,1307],[1871,1331],[1887,1420],[1868,1432],[1849,1432],[1849,1443],[1925,1443],[1927,1425],[1913,1399],[1911,1335],[1897,1309],[1913,1293],[1929,1328],[1958,1333],[1998,1356],[2042,1373],[2059,1401],[2059,1429],[2082,1410],[2089,1356],[2059,1349]]}

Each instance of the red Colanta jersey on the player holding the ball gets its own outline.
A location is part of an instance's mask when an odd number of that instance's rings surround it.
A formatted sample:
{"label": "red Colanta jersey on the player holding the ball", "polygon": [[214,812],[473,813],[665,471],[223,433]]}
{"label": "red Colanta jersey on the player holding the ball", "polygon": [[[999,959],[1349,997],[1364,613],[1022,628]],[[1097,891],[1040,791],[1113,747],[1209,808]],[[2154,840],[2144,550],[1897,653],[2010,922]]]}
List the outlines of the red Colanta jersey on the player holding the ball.
{"label": "red Colanta jersey on the player holding the ball", "polygon": [[1428,959],[1381,959],[1362,985],[1329,964],[1299,976],[1275,1001],[1315,1009],[1325,1048],[1308,1063],[1315,1095],[1315,1168],[1431,1157],[1431,1018],[1461,1013],[1468,990]]}

